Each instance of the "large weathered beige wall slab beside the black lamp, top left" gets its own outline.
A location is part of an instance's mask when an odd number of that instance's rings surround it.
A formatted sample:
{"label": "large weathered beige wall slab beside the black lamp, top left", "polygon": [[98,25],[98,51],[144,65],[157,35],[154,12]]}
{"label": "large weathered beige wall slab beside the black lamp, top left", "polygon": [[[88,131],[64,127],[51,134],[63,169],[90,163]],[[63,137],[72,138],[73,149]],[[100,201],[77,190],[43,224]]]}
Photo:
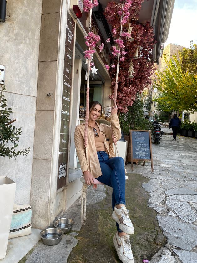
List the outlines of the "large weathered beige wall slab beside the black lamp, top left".
{"label": "large weathered beige wall slab beside the black lamp, top left", "polygon": [[42,3],[9,0],[7,10],[9,20],[0,23],[0,57],[6,67],[7,90],[36,96]]}

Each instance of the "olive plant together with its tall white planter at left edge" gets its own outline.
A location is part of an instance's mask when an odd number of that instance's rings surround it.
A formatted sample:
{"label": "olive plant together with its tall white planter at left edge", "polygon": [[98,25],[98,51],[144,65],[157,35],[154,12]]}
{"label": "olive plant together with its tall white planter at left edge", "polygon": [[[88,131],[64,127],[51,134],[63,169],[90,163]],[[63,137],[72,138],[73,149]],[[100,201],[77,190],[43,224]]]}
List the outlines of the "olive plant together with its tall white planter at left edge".
{"label": "olive plant together with its tall white planter at left edge", "polygon": [[[10,119],[12,109],[8,108],[3,94],[5,85],[0,90],[0,157],[16,158],[18,155],[27,155],[30,149],[16,150],[18,147],[21,128],[13,126],[16,120]],[[6,160],[5,160],[6,161]],[[8,236],[13,213],[16,183],[7,176],[0,176],[0,259],[6,255]]]}

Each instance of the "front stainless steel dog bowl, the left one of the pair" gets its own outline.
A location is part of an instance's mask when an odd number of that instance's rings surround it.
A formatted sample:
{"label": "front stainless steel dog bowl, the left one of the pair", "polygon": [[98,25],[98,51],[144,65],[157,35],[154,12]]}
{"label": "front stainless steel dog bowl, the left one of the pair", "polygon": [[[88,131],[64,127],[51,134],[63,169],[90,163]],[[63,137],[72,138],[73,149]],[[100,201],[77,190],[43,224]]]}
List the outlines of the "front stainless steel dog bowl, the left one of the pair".
{"label": "front stainless steel dog bowl, the left one of the pair", "polygon": [[44,229],[40,232],[43,243],[48,246],[53,246],[59,243],[61,237],[63,236],[63,231],[61,229],[50,227]]}

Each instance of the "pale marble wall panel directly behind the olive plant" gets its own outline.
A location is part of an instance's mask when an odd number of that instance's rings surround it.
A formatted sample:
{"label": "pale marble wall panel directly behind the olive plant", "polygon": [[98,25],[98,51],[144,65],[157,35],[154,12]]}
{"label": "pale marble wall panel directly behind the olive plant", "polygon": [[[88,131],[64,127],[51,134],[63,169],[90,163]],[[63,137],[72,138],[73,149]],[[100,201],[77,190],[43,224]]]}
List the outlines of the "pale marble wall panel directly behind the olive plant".
{"label": "pale marble wall panel directly behind the olive plant", "polygon": [[13,113],[10,119],[16,119],[13,123],[17,128],[22,127],[22,134],[19,137],[18,150],[30,147],[31,151],[27,156],[14,158],[0,157],[0,176],[8,176],[16,182],[16,204],[29,204],[32,176],[33,140],[36,112],[36,98],[20,94],[5,92],[8,99],[8,106]]}

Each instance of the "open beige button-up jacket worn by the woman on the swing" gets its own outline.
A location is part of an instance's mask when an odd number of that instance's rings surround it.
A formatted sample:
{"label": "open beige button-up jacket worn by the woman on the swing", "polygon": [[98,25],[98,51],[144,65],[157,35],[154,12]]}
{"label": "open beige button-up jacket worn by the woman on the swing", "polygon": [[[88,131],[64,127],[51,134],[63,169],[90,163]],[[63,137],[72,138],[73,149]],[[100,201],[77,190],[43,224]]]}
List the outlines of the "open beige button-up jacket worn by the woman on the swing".
{"label": "open beige button-up jacket worn by the woman on the swing", "polygon": [[[111,123],[113,126],[114,137],[118,141],[121,138],[121,130],[117,114],[111,115]],[[113,140],[111,135],[111,126],[103,123],[98,125],[100,132],[104,135],[104,144],[106,147],[106,152],[109,154],[109,158],[115,157],[113,149]],[[102,172],[100,168],[99,158],[96,152],[94,131],[93,128],[88,125],[87,158],[85,156],[84,149],[84,131],[85,122],[83,122],[75,128],[74,142],[77,151],[77,156],[81,165],[82,172],[88,170],[94,178],[97,178],[102,175]],[[109,139],[109,141],[107,141],[106,139]]]}

